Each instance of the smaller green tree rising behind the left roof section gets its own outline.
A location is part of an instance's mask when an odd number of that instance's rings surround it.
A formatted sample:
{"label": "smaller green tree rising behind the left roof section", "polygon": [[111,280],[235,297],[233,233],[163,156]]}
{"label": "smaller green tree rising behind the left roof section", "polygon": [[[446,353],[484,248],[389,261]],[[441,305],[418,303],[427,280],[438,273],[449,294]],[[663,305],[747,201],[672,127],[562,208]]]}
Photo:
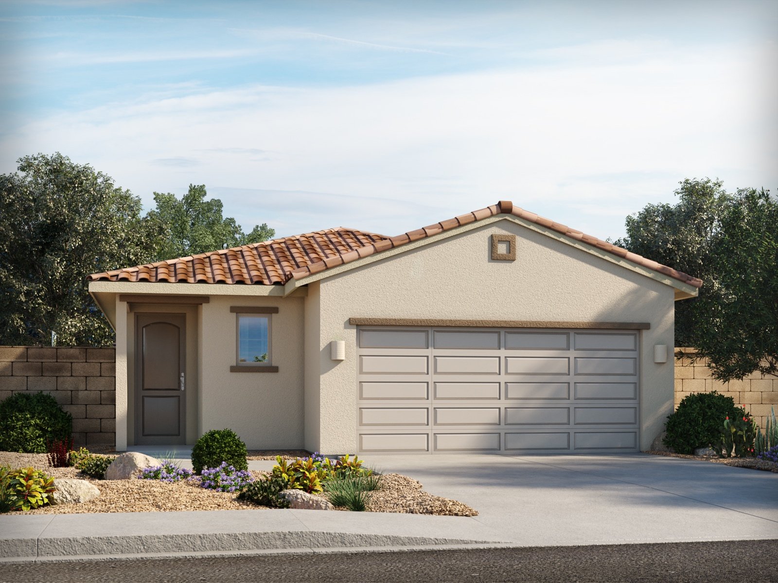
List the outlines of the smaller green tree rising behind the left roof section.
{"label": "smaller green tree rising behind the left roof section", "polygon": [[260,243],[275,236],[266,223],[254,226],[245,234],[234,218],[223,218],[223,204],[218,198],[205,200],[205,185],[189,185],[179,201],[175,194],[154,193],[156,209],[149,216],[166,225],[166,240],[157,260],[187,257],[248,243]]}

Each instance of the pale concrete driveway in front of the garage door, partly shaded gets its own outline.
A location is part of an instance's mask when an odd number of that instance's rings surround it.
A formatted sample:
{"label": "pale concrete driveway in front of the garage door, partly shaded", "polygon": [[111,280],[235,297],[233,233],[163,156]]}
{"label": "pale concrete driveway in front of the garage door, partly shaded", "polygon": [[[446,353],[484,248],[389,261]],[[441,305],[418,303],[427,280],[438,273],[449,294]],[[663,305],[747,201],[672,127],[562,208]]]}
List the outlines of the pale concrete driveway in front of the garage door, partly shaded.
{"label": "pale concrete driveway in front of the garage door, partly shaded", "polygon": [[778,473],[647,454],[375,456],[520,545],[778,539]]}

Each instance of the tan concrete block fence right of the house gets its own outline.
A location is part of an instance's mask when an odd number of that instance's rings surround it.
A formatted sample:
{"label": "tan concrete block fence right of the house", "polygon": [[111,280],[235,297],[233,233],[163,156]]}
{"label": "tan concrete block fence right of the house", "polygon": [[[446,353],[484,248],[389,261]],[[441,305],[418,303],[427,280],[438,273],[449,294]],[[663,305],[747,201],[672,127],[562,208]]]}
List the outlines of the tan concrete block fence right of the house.
{"label": "tan concrete block fence right of the house", "polygon": [[[694,348],[676,348],[676,353],[685,355],[696,353]],[[744,407],[759,427],[765,427],[765,421],[771,407],[778,415],[778,376],[763,376],[752,373],[741,381],[721,382],[713,379],[705,359],[692,362],[689,356],[675,361],[675,405],[692,393],[719,393],[731,396],[734,404]]]}

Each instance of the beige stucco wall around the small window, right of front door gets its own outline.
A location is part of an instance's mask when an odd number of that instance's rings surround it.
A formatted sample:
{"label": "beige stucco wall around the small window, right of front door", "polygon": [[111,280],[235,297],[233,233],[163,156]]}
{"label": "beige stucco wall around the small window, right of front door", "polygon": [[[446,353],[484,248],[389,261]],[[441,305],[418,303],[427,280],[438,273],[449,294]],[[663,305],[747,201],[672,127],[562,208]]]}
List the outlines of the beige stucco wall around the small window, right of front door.
{"label": "beige stucco wall around the small window, right of front door", "polygon": [[[276,306],[272,365],[279,372],[230,372],[236,364],[236,314],[230,306]],[[303,298],[211,296],[202,305],[199,435],[230,428],[249,449],[303,446]]]}

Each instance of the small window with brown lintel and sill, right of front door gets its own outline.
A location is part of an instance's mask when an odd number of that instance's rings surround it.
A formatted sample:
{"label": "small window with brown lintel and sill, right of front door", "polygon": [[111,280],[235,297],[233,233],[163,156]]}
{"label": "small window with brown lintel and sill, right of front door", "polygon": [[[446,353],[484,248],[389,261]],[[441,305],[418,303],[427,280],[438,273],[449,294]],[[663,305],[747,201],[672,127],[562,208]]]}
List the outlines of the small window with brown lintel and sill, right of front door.
{"label": "small window with brown lintel and sill, right of front door", "polygon": [[236,316],[235,365],[230,372],[279,372],[272,365],[272,314],[278,308],[231,306]]}

